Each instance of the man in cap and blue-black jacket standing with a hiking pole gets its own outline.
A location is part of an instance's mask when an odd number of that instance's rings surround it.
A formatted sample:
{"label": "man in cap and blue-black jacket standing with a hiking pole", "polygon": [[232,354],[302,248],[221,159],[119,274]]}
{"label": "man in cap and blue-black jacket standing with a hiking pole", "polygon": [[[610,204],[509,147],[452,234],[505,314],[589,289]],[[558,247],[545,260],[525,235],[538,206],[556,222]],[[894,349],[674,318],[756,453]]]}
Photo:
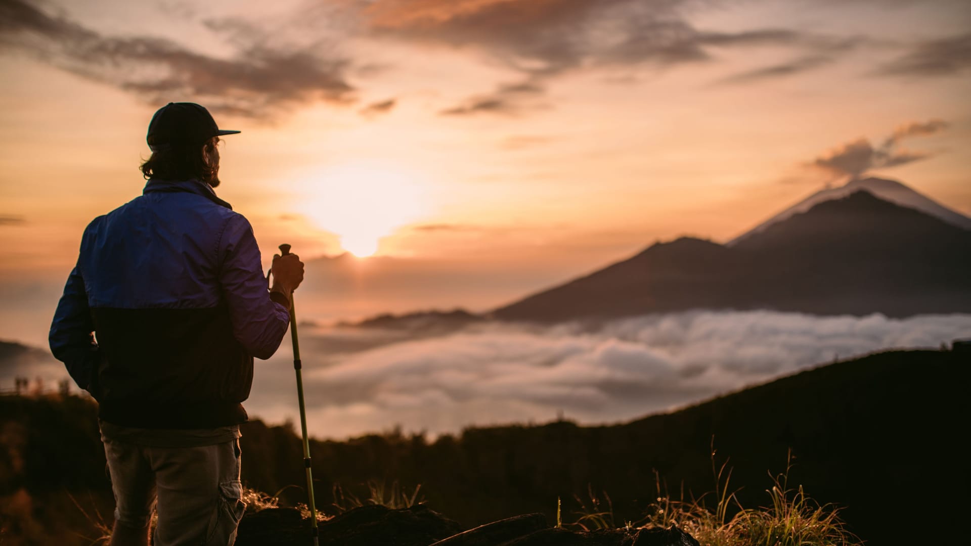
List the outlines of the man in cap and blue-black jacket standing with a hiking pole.
{"label": "man in cap and blue-black jacket standing with a hiking pole", "polygon": [[[240,402],[252,358],[270,358],[303,280],[273,256],[267,290],[250,222],[219,199],[220,130],[169,103],[149,124],[143,195],[84,230],[50,325],[50,350],[99,404],[115,493],[112,544],[232,544],[240,500]],[[156,503],[157,498],[157,503]]]}

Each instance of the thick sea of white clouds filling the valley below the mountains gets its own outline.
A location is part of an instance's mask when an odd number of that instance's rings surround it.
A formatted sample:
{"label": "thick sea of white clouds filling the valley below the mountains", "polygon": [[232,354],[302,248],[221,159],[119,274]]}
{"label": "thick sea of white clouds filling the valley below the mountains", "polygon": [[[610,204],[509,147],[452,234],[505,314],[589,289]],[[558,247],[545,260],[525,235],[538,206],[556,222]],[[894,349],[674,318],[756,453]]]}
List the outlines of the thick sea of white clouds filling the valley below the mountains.
{"label": "thick sea of white clouds filling the valley below the mountains", "polygon": [[[686,312],[450,333],[304,326],[308,426],[342,438],[401,427],[616,423],[892,348],[971,336],[971,315],[888,319],[769,311]],[[257,361],[254,417],[297,420],[289,340]],[[916,370],[920,373],[920,370]]]}

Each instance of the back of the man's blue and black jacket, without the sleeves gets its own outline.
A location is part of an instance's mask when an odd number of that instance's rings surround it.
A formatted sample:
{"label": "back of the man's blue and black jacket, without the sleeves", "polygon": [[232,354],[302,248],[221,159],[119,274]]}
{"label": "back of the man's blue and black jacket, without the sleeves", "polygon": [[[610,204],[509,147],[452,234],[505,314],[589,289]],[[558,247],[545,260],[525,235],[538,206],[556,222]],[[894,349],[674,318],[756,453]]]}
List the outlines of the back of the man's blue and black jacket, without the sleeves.
{"label": "back of the man's blue and black jacket, without the sleeves", "polygon": [[252,357],[234,337],[219,275],[232,252],[223,234],[249,222],[213,197],[178,190],[193,184],[147,190],[84,233],[78,270],[103,355],[97,397],[109,423],[246,420],[240,402]]}

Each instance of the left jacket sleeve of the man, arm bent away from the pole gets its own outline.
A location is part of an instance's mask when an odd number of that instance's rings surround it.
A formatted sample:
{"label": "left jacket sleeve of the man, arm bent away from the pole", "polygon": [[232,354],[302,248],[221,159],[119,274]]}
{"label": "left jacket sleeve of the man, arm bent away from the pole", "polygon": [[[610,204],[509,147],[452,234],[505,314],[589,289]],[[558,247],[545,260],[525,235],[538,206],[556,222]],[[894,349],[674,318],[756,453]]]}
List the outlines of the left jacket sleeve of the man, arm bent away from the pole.
{"label": "left jacket sleeve of the man, arm bent away from the pole", "polygon": [[64,362],[71,379],[94,394],[98,365],[98,346],[94,342],[94,321],[87,306],[84,278],[75,266],[64,286],[50,323],[50,352]]}

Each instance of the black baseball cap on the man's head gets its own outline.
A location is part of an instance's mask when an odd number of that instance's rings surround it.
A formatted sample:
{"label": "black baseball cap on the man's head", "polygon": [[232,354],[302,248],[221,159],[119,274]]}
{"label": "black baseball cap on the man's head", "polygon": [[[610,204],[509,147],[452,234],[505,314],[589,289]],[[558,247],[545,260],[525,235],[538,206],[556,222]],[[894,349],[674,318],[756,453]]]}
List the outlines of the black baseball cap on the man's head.
{"label": "black baseball cap on the man's head", "polygon": [[152,152],[201,145],[214,136],[240,131],[220,129],[208,110],[194,102],[170,102],[151,117],[145,140]]}

